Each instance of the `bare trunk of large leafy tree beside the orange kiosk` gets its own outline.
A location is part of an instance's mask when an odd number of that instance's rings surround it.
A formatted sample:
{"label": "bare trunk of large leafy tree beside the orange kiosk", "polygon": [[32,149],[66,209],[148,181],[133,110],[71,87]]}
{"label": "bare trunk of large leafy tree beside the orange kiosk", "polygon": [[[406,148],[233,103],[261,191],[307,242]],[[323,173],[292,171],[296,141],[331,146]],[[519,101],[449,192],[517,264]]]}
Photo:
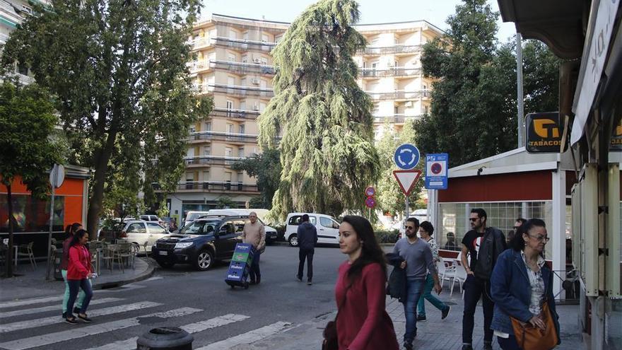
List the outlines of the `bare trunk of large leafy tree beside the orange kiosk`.
{"label": "bare trunk of large leafy tree beside the orange kiosk", "polygon": [[93,194],[88,201],[88,214],[86,216],[86,229],[89,237],[95,238],[98,231],[100,214],[102,211],[102,201],[104,199],[104,185],[108,172],[108,162],[115,147],[117,132],[110,131],[106,139],[105,146],[100,149],[95,158],[95,177],[93,178]]}

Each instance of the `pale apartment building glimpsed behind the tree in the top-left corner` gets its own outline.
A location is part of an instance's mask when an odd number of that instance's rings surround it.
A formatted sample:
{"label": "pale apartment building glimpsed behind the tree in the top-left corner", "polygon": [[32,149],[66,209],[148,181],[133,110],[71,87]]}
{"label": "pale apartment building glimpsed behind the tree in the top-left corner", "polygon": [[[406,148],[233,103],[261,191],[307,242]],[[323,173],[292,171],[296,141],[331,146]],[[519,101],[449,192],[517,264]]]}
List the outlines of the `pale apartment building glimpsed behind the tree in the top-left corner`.
{"label": "pale apartment building glimpsed behind the tree in the top-left corner", "polygon": [[[49,4],[48,0],[34,0],[39,4]],[[28,0],[0,0],[0,46],[6,44],[8,35],[11,34],[24,18],[33,15],[33,6],[28,4]],[[30,77],[28,66],[16,64],[15,73],[20,83],[28,84],[35,81]]]}

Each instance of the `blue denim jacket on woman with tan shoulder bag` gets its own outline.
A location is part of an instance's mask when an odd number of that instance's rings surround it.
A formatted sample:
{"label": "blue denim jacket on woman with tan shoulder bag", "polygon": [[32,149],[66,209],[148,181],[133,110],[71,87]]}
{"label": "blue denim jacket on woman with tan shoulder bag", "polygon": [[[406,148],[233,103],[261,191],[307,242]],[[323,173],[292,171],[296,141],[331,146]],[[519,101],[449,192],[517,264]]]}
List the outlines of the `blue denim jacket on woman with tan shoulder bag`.
{"label": "blue denim jacket on woman with tan shoulder bag", "polygon": [[[542,267],[542,279],[544,280],[544,300],[548,301],[548,309],[551,310],[557,338],[560,339],[559,316],[555,310],[555,296],[553,296],[553,273],[546,264]],[[529,312],[532,286],[529,283],[527,267],[520,252],[508,249],[499,255],[491,276],[491,296],[495,302],[491,329],[514,334],[510,316],[522,322],[527,322],[533,317]]]}

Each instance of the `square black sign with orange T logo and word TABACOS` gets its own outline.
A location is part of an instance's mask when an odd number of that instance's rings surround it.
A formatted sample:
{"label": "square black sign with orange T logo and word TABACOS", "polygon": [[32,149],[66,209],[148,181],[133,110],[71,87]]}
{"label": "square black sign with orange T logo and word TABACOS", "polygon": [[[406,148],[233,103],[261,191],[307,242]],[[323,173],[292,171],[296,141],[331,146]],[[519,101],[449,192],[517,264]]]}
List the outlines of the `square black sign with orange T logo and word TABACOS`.
{"label": "square black sign with orange T logo and word TABACOS", "polygon": [[[563,126],[559,112],[529,113],[525,116],[525,148],[529,153],[560,153]],[[563,150],[565,151],[566,145]]]}

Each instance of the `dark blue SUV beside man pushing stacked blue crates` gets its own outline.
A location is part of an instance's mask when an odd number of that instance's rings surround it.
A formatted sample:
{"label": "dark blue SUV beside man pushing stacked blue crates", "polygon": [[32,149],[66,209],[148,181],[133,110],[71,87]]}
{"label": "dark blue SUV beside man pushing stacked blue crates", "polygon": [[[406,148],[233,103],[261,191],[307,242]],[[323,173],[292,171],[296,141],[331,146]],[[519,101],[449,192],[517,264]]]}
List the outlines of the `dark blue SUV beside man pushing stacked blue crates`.
{"label": "dark blue SUV beside man pushing stacked blue crates", "polygon": [[206,216],[184,226],[180,233],[160,238],[151,256],[161,267],[192,264],[200,271],[216,260],[230,260],[235,245],[242,242],[247,216]]}

